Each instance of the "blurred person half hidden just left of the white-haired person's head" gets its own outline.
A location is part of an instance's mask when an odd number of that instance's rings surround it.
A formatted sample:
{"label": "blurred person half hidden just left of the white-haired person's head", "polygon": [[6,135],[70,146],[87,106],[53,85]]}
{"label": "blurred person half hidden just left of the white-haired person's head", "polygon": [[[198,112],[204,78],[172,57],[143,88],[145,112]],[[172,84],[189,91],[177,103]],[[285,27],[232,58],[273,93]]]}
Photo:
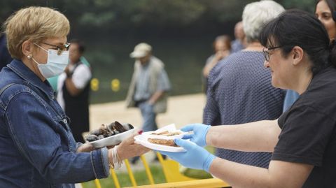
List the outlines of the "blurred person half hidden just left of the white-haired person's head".
{"label": "blurred person half hidden just left of the white-haired person's head", "polygon": [[239,52],[245,48],[245,33],[243,22],[237,22],[235,25],[235,40],[231,43],[231,53]]}

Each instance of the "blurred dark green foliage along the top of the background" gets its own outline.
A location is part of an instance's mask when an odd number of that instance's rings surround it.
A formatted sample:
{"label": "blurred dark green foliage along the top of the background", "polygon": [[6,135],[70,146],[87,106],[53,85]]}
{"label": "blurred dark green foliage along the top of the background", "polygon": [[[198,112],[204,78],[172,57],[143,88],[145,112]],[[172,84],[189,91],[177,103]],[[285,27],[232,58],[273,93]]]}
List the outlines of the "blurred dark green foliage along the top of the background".
{"label": "blurred dark green foliage along the top of the background", "polygon": [[[146,29],[162,31],[202,25],[223,27],[241,20],[247,3],[253,0],[1,0],[0,20],[25,6],[50,6],[64,13],[72,31],[125,31]],[[314,12],[314,0],[279,0],[285,8]],[[135,31],[134,31],[135,32]]]}

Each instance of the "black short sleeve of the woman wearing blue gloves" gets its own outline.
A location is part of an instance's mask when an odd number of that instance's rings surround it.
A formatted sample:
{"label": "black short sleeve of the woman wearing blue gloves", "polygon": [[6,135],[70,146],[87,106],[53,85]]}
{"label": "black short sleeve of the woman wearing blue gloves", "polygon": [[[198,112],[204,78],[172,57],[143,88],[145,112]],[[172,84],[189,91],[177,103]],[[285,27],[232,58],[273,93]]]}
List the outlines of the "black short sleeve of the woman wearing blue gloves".
{"label": "black short sleeve of the woman wearing blue gloves", "polygon": [[281,133],[272,160],[321,166],[335,120],[309,106],[297,106],[279,118]]}

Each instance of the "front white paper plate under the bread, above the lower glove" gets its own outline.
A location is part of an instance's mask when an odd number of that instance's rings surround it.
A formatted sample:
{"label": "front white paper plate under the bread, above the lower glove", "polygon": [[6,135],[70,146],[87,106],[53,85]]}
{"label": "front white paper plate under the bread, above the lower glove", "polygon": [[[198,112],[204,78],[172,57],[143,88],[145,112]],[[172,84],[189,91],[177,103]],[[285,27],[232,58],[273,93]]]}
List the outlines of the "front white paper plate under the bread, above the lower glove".
{"label": "front white paper plate under the bread, above the lower glove", "polygon": [[134,136],[135,143],[139,143],[141,145],[144,145],[145,147],[148,147],[152,150],[160,150],[165,152],[185,152],[183,147],[174,147],[174,146],[168,146],[168,145],[160,145],[155,143],[148,142],[148,136],[146,134],[141,134]]}

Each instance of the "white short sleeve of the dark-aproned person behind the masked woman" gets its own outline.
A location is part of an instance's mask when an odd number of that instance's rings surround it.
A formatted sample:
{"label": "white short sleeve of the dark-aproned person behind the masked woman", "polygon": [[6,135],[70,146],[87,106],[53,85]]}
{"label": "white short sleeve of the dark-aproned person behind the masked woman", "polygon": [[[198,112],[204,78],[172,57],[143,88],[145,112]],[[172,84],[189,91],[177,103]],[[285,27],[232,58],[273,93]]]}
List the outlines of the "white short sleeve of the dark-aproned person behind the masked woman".
{"label": "white short sleeve of the dark-aproned person behind the masked woman", "polygon": [[80,64],[78,68],[76,68],[76,70],[73,72],[72,81],[78,89],[83,89],[87,85],[87,82],[89,82],[91,77],[92,74],[90,68],[85,64]]}

